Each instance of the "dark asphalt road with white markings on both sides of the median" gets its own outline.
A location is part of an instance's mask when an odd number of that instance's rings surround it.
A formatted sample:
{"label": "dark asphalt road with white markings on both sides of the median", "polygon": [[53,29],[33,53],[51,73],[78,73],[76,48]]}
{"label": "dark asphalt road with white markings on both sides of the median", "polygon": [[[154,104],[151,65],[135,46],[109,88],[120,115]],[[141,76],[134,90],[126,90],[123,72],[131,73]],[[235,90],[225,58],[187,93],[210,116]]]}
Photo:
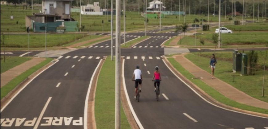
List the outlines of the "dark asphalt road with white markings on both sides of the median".
{"label": "dark asphalt road with white markings on both sides of the median", "polygon": [[[266,118],[217,108],[197,96],[173,75],[160,58],[164,55],[164,48],[160,45],[177,34],[147,34],[152,37],[131,49],[121,49],[125,58],[128,97],[144,128],[268,127]],[[129,41],[144,33],[127,35],[126,40]],[[1,128],[83,128],[91,76],[100,59],[110,55],[110,47],[110,41],[106,41],[56,57],[58,63],[31,81],[1,110]],[[141,66],[144,79],[139,103],[134,100],[134,83],[131,81],[136,64]],[[151,81],[156,65],[162,77],[159,102],[155,100]]]}

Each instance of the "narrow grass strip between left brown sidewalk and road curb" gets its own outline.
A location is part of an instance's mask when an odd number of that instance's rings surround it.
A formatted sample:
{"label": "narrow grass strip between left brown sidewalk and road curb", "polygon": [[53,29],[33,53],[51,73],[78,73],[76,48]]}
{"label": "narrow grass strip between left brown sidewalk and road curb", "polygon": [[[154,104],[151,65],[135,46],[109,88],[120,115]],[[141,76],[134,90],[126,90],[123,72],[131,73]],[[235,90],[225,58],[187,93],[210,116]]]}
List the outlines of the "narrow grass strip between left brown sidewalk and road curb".
{"label": "narrow grass strip between left brown sidewalk and road curb", "polygon": [[16,76],[14,79],[12,79],[10,82],[8,82],[6,85],[4,85],[1,88],[1,100],[3,97],[5,97],[11,90],[13,90],[18,84],[20,84],[23,80],[25,80],[28,76],[30,76],[32,73],[36,72],[43,66],[47,65],[50,61],[52,61],[52,58],[47,58],[45,61],[42,61],[41,63],[33,66],[32,68],[26,70],[22,74]]}

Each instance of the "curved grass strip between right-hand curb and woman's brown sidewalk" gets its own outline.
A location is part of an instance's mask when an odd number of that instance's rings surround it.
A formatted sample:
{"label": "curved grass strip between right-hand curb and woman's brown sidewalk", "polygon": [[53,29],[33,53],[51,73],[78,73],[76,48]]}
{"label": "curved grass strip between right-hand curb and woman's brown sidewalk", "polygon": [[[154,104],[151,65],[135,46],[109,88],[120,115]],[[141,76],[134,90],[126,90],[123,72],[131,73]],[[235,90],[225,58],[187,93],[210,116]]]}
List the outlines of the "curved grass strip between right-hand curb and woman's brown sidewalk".
{"label": "curved grass strip between right-hand curb and woman's brown sidewalk", "polygon": [[167,58],[169,62],[179,71],[183,76],[185,76],[188,80],[193,82],[195,85],[197,85],[199,88],[201,88],[204,92],[206,92],[209,96],[213,97],[215,100],[221,102],[222,104],[226,104],[235,108],[240,108],[243,110],[248,111],[255,111],[259,113],[268,114],[268,110],[262,109],[262,108],[256,108],[252,106],[248,106],[246,104],[240,104],[236,101],[230,100],[229,98],[226,98],[224,95],[222,95],[217,90],[213,89],[209,85],[205,84],[202,80],[199,79],[191,79],[193,75],[185,70],[174,58]]}

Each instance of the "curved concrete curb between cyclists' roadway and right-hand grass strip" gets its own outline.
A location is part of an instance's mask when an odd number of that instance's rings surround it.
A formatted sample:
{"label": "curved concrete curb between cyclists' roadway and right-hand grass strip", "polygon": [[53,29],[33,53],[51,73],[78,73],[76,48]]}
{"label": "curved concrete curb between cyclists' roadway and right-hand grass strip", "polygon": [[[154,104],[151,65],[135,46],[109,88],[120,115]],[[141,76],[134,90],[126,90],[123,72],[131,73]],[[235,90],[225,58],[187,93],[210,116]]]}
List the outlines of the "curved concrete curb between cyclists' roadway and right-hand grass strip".
{"label": "curved concrete curb between cyclists' roadway and right-hand grass strip", "polygon": [[190,80],[188,80],[185,76],[183,76],[179,71],[177,71],[177,69],[173,67],[173,65],[167,60],[167,58],[165,56],[163,56],[162,58],[164,59],[164,61],[166,62],[166,64],[169,65],[169,67],[172,69],[172,71],[177,74],[177,76],[181,77],[197,93],[199,93],[202,97],[204,97],[206,100],[208,100],[212,104],[215,104],[215,105],[217,105],[219,107],[226,108],[226,109],[229,109],[229,110],[237,111],[237,112],[240,112],[240,113],[268,118],[268,114],[258,113],[258,112],[254,112],[254,111],[247,111],[247,110],[243,110],[243,109],[239,109],[239,108],[234,108],[234,107],[231,107],[231,106],[222,104],[221,102],[219,102],[219,101],[215,100],[214,98],[212,98],[211,96],[209,96],[201,88],[199,88],[197,85],[195,85]]}

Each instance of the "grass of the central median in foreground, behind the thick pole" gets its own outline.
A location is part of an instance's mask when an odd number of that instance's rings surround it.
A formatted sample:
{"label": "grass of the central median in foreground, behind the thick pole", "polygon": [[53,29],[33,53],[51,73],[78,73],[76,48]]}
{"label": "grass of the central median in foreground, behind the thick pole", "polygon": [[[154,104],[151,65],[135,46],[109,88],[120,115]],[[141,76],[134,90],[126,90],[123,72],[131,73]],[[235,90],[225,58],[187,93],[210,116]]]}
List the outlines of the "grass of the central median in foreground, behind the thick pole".
{"label": "grass of the central median in foreground, behind the thick pole", "polygon": [[[106,58],[98,78],[95,93],[95,120],[100,129],[115,127],[115,61]],[[121,104],[121,128],[130,129],[130,125]]]}

